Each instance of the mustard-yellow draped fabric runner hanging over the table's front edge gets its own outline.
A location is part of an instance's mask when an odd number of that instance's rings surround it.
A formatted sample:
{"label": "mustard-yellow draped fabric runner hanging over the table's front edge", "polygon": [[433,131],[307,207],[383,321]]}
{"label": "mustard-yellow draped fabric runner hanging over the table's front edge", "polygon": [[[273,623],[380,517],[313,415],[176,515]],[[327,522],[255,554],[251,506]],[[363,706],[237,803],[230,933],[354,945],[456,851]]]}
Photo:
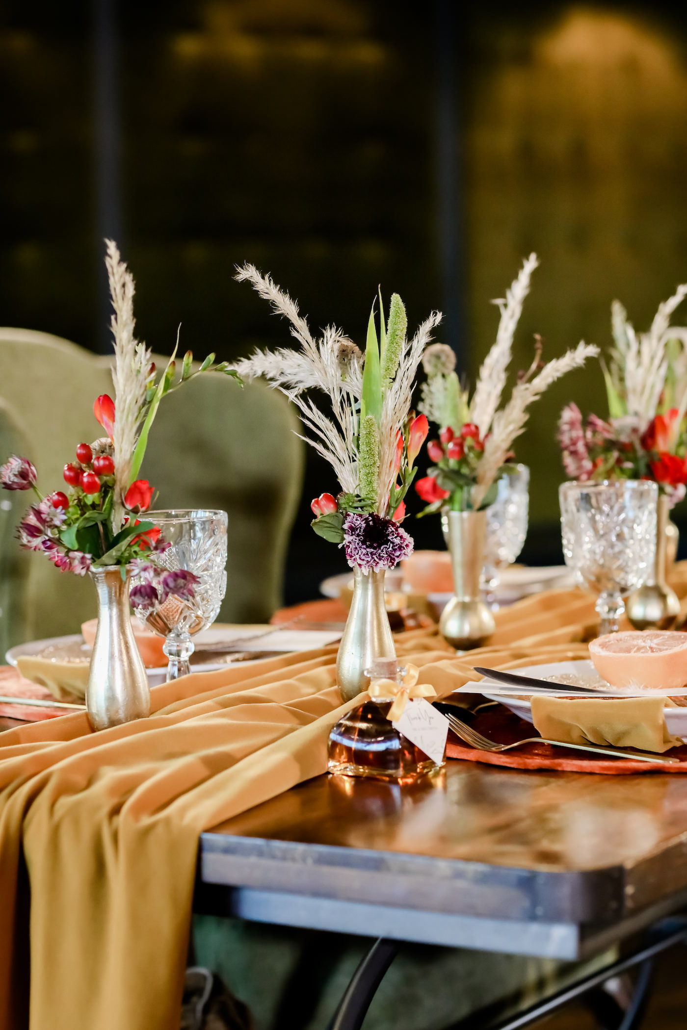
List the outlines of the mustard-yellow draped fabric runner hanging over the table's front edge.
{"label": "mustard-yellow draped fabric runner hanging over the table's front edge", "polygon": [[[460,657],[426,630],[398,653],[439,696],[474,664],[586,657],[593,598],[550,591],[496,621]],[[195,674],[100,733],[82,713],[0,733],[0,1030],[177,1030],[199,834],[325,770],[331,727],[365,697],[340,703],[335,661]]]}

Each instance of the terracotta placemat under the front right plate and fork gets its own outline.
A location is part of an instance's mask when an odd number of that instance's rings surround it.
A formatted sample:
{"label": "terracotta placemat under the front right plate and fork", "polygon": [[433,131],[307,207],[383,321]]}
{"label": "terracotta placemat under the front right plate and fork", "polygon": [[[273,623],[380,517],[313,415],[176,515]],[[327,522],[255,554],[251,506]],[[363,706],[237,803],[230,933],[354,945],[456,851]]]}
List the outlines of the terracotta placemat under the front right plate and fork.
{"label": "terracotta placemat under the front right plate and fork", "polygon": [[[513,744],[527,736],[537,736],[537,730],[530,722],[519,719],[512,712],[500,706],[480,712],[470,722],[470,725],[497,744]],[[631,751],[631,748],[627,748]],[[463,744],[449,730],[448,758],[460,758],[469,762],[486,762],[488,765],[506,765],[516,769],[557,769],[562,772],[604,772],[610,776],[622,776],[628,772],[687,772],[687,745],[672,748],[666,755],[680,758],[680,764],[671,762],[633,762],[629,758],[598,759],[591,755],[585,757],[584,751],[571,751],[569,748],[556,748],[550,744],[526,744],[516,751],[505,751],[492,754],[488,751],[476,751],[469,744]]]}

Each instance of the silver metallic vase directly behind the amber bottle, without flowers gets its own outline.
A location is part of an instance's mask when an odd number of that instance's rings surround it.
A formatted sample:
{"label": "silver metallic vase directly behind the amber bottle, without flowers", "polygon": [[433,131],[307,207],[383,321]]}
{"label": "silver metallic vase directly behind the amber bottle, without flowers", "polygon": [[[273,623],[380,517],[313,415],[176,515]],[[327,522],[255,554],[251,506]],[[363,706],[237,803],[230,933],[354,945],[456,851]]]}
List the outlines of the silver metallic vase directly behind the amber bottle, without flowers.
{"label": "silver metallic vase directly behind the amber bottle, without flowers", "polygon": [[393,658],[396,648],[384,604],[384,570],[353,569],[353,598],[337,656],[337,683],[345,701],[370,686],[365,675],[375,658]]}

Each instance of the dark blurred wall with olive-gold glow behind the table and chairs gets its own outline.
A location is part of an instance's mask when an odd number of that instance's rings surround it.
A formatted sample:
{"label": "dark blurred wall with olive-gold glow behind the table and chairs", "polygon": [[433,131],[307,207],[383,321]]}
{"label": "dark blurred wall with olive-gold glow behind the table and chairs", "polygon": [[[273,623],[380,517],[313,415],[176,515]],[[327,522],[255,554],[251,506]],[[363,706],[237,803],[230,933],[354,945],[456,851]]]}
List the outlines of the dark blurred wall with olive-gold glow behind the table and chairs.
{"label": "dark blurred wall with olive-gold glow behind the table and chairs", "polygon": [[[358,342],[378,283],[413,329],[441,308],[474,381],[489,301],[536,250],[514,372],[536,332],[545,356],[606,347],[613,298],[647,329],[687,279],[686,49],[684,4],[4,2],[0,323],[106,351],[111,235],[158,352],[179,322],[199,355],[287,343],[233,281],[247,260],[312,329]],[[552,388],[518,443],[531,563],[560,560],[554,433],[571,399],[606,413],[596,365]],[[335,487],[309,454],[288,603],[345,568],[309,527],[310,499]],[[407,525],[442,546],[437,519]]]}

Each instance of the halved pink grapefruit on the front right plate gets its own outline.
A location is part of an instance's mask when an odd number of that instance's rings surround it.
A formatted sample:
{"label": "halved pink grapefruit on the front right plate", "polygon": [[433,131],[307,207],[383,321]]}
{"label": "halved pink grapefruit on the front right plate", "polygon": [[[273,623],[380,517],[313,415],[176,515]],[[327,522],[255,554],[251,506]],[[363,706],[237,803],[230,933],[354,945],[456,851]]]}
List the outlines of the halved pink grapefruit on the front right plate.
{"label": "halved pink grapefruit on the front right plate", "polygon": [[598,675],[618,689],[679,690],[687,684],[687,633],[606,633],[590,641],[589,655]]}

